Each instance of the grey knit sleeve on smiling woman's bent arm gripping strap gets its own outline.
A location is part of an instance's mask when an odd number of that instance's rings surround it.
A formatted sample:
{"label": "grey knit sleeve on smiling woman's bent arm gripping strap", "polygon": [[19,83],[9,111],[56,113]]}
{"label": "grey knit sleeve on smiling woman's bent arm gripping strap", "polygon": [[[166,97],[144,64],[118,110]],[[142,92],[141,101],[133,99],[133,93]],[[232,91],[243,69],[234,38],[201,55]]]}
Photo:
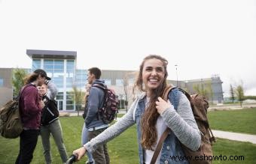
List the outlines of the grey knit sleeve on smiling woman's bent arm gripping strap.
{"label": "grey knit sleeve on smiling woman's bent arm gripping strap", "polygon": [[172,107],[166,109],[161,116],[183,145],[192,151],[197,151],[201,143],[200,130],[194,119],[190,102],[184,94],[181,94],[177,111]]}

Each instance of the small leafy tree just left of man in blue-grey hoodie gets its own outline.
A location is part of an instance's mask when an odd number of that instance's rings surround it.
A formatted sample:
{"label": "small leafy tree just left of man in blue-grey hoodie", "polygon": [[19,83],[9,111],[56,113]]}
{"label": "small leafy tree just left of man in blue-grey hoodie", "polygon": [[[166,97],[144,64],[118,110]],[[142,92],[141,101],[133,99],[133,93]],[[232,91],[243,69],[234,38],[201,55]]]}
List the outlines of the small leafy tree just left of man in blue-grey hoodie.
{"label": "small leafy tree just left of man in blue-grey hoodie", "polygon": [[82,102],[83,102],[85,93],[81,89],[78,89],[76,86],[73,86],[72,94],[74,94],[74,97],[72,97],[72,100],[75,103],[75,110],[78,112],[78,116],[79,116],[79,110],[82,109]]}

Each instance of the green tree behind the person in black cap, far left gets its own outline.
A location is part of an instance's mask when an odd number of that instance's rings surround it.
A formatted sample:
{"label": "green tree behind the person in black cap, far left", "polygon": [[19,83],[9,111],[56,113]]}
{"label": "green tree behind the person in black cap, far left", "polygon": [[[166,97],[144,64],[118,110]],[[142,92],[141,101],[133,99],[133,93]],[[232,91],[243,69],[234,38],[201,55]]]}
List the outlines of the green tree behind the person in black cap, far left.
{"label": "green tree behind the person in black cap, far left", "polygon": [[17,97],[17,95],[19,94],[20,88],[22,88],[25,84],[24,78],[28,74],[29,73],[24,69],[15,68],[13,70],[12,84],[14,85],[14,97]]}

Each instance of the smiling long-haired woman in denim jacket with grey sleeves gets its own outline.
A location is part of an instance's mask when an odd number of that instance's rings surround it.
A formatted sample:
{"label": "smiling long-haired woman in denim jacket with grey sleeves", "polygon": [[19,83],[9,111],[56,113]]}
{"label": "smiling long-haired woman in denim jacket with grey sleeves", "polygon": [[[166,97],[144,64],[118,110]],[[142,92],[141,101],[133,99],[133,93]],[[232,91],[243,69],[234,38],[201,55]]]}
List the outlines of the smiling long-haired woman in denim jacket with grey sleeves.
{"label": "smiling long-haired woman in denim jacket with grey sleeves", "polygon": [[[151,163],[154,150],[166,127],[172,132],[164,140],[156,163],[173,163],[171,157],[184,156],[181,144],[192,151],[197,151],[201,142],[200,131],[187,97],[175,88],[168,93],[167,102],[161,98],[167,88],[167,64],[168,61],[160,55],[148,55],[144,58],[133,89],[135,91],[137,88],[142,94],[134,100],[120,121],[91,139],[84,147],[73,151],[73,154],[77,154],[78,160],[86,151],[93,152],[98,145],[114,139],[133,124],[137,126],[140,164]],[[173,92],[175,94],[172,94]],[[170,102],[178,106],[174,108]],[[188,161],[180,160],[175,163]]]}

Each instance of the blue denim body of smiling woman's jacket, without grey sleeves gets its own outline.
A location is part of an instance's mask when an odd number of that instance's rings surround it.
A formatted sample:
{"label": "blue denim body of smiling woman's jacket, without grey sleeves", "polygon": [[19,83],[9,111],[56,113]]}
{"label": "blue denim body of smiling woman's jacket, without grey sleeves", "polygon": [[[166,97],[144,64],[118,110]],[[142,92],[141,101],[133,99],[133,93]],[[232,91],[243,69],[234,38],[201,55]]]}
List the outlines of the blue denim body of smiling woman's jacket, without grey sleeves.
{"label": "blue denim body of smiling woman's jacket, without grey sleeves", "polygon": [[[170,102],[173,104],[174,108],[177,109],[178,107],[178,100],[180,97],[181,92],[178,89],[174,89],[168,95]],[[143,113],[145,112],[145,97],[139,100],[139,103],[136,107],[135,111],[135,121],[137,125],[137,137],[138,137],[138,144],[139,144],[139,161],[140,164],[143,164],[144,161],[144,150],[142,145],[140,144],[142,131],[141,131],[141,118]],[[174,133],[169,133],[166,137],[166,140],[163,142],[162,151],[160,152],[160,163],[188,163],[187,160],[172,160],[171,157],[179,156],[183,157],[184,152],[181,149],[180,142],[178,141],[177,137]]]}

